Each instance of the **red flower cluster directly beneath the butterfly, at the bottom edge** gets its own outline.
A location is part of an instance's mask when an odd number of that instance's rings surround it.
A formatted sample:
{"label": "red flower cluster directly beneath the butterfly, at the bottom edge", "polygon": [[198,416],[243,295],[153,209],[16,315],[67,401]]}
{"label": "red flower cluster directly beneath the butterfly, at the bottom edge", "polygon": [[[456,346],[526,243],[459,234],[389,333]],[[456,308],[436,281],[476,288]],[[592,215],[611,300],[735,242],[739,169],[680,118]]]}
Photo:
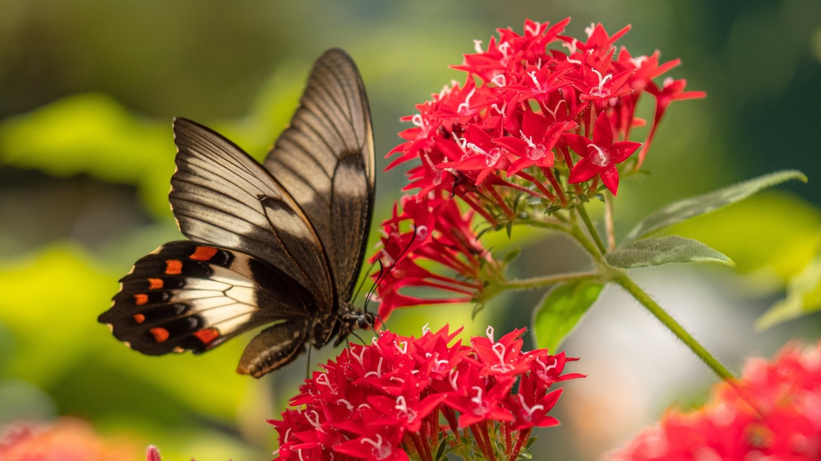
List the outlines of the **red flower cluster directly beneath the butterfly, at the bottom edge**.
{"label": "red flower cluster directly beneath the butterfly, at the bottom edge", "polygon": [[269,421],[279,458],[432,461],[440,450],[464,449],[470,431],[484,459],[516,459],[533,427],[558,423],[548,412],[562,390],[550,387],[584,375],[561,374],[575,360],[563,353],[523,353],[524,330],[495,341],[488,327],[470,346],[456,340],[460,331],[383,331],[371,345],[351,344],[305,380],[295,408]]}

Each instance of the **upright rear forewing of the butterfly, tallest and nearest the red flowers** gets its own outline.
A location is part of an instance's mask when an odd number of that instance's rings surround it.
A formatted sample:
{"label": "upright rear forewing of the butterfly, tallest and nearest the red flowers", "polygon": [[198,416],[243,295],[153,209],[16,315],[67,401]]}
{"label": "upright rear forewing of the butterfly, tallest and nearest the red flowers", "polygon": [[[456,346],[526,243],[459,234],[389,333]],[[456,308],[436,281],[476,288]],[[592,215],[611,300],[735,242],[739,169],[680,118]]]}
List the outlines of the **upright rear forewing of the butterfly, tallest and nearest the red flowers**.
{"label": "upright rear forewing of the butterfly, tallest and nearest the red flowers", "polygon": [[291,126],[264,162],[319,235],[341,299],[353,292],[374,207],[372,131],[359,71],[333,48],[314,63]]}

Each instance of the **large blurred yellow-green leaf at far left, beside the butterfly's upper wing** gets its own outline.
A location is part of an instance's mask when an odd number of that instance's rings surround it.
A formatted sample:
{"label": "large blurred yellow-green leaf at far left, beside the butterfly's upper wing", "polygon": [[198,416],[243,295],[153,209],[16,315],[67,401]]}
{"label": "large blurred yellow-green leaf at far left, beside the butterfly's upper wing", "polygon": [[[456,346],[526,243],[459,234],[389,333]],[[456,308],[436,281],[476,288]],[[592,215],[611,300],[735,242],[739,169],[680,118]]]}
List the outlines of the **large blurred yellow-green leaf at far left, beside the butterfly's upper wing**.
{"label": "large blurred yellow-green leaf at far left, beside the butterfly's upper wing", "polygon": [[135,116],[103,94],[63,98],[0,124],[0,162],[137,185],[160,215],[170,215],[175,152],[170,121]]}

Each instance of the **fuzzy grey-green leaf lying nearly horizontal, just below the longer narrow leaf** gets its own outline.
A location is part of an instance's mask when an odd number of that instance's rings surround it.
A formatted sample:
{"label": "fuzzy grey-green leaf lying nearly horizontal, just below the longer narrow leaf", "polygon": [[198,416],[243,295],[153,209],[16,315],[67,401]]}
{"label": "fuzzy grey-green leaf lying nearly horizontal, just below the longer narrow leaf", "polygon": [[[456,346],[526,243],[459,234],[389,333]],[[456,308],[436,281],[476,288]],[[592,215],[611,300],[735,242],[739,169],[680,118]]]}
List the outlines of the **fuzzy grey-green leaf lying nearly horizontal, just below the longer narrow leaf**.
{"label": "fuzzy grey-green leaf lying nearly horizontal, just below the longer narrow leaf", "polygon": [[669,262],[721,262],[734,266],[732,259],[711,249],[698,240],[686,239],[678,235],[658,239],[642,239],[605,255],[615,267],[660,266]]}

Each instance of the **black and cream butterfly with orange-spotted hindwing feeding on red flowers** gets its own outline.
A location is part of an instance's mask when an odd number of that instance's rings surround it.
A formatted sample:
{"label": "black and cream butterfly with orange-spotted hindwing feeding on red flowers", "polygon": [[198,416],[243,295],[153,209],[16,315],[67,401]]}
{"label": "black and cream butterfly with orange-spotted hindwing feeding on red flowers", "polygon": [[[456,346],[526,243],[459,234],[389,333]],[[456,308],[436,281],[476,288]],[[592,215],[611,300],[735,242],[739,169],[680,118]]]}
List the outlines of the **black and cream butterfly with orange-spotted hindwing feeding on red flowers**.
{"label": "black and cream butterfly with orange-spotted hindwing feeding on red flowers", "polygon": [[169,194],[190,240],[135,262],[100,314],[143,354],[200,354],[259,332],[237,372],[261,377],[306,345],[339,345],[374,315],[351,304],[374,208],[370,109],[351,57],[314,63],[300,106],[262,165],[228,139],[176,118]]}

